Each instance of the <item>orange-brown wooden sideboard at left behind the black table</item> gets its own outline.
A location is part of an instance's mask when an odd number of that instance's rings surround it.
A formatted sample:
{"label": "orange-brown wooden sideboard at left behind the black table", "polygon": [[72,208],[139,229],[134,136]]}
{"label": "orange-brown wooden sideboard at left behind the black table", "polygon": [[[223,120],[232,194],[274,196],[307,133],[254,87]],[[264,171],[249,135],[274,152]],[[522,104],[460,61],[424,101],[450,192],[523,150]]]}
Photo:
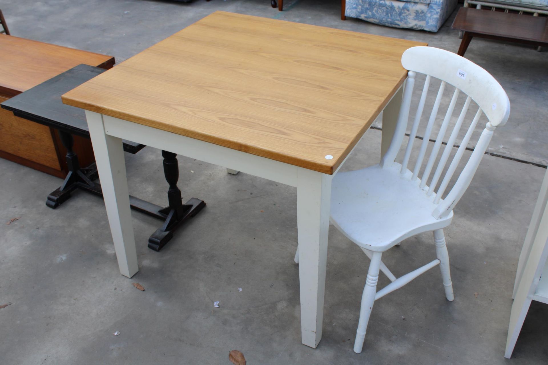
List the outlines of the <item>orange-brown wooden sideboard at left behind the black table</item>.
{"label": "orange-brown wooden sideboard at left behind the black table", "polygon": [[[72,67],[111,68],[114,57],[0,34],[0,103]],[[75,136],[82,166],[94,161],[90,140]],[[0,109],[0,157],[64,178],[68,172],[58,132]]]}

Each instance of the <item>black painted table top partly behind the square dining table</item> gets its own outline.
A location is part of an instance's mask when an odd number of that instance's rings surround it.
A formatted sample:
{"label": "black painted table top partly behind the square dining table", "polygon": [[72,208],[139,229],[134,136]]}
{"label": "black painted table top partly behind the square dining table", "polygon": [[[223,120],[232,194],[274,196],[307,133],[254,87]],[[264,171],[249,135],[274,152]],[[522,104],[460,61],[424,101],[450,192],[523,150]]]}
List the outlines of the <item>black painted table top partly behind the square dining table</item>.
{"label": "black painted table top partly behind the square dining table", "polygon": [[[63,104],[61,95],[105,71],[99,67],[78,65],[4,101],[1,106],[17,117],[89,138],[84,110]],[[145,147],[135,142],[123,142],[124,150],[129,153],[137,153]]]}

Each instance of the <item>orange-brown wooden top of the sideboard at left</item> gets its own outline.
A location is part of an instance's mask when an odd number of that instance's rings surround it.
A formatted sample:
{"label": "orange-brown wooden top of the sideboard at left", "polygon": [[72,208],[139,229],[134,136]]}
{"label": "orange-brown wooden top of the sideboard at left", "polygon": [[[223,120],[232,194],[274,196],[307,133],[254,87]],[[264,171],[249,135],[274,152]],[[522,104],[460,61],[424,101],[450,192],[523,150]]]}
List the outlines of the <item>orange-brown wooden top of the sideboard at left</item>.
{"label": "orange-brown wooden top of the sideboard at left", "polygon": [[15,96],[81,63],[110,68],[114,57],[0,34],[0,94]]}

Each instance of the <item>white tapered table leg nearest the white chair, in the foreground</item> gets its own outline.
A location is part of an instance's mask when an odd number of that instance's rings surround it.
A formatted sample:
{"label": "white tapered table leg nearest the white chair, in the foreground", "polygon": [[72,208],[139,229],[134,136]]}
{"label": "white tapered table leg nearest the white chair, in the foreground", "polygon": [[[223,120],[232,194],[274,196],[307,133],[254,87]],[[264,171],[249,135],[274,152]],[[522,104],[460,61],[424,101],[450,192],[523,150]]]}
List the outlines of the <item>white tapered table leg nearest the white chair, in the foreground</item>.
{"label": "white tapered table leg nearest the white chair, in the foreground", "polygon": [[299,169],[297,225],[302,343],[316,348],[322,338],[327,236],[332,176]]}

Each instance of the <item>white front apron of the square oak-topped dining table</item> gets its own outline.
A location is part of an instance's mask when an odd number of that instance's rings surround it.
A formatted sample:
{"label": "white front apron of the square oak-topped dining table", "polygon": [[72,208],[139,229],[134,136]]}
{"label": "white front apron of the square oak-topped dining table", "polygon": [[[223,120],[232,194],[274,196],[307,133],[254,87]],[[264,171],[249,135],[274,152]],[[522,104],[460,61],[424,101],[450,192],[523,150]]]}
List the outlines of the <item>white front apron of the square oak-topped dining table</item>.
{"label": "white front apron of the square oak-topped dining table", "polygon": [[[86,111],[86,113],[93,113]],[[108,135],[297,187],[298,166],[102,115]]]}

